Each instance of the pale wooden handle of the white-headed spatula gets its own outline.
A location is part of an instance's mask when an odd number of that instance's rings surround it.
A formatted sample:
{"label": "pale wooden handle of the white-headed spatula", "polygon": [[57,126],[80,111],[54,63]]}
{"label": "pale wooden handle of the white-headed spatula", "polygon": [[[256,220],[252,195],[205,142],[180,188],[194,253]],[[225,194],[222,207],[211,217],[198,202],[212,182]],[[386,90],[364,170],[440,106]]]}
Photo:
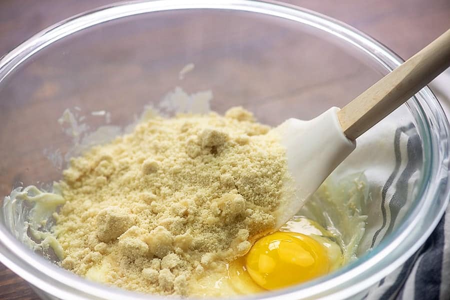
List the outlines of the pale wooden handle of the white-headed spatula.
{"label": "pale wooden handle of the white-headed spatula", "polygon": [[355,140],[449,66],[450,29],[339,110],[343,132]]}

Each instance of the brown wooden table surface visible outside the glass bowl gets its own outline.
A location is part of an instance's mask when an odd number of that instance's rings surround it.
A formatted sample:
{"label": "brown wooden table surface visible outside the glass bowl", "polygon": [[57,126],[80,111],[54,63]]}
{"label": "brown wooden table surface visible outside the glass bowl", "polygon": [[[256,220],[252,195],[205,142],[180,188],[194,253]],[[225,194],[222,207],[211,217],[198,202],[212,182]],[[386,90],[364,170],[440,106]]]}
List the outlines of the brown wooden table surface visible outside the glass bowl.
{"label": "brown wooden table surface visible outside the glass bowl", "polygon": [[[1,0],[0,57],[38,30],[110,0]],[[403,58],[450,28],[450,0],[289,0],[340,19],[378,39]],[[0,300],[39,299],[0,264]]]}

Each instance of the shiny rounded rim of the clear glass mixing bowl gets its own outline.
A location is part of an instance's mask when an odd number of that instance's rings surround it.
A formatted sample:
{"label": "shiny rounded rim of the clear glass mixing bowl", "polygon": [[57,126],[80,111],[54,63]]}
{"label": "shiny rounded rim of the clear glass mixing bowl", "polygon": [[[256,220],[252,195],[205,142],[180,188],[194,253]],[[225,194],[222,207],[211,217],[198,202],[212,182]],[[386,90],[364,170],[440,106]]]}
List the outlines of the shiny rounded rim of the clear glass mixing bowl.
{"label": "shiny rounded rim of the clear glass mixing bowl", "polygon": [[[65,36],[126,16],[182,9],[227,9],[281,17],[315,27],[346,41],[371,56],[389,71],[402,62],[402,59],[390,49],[359,30],[331,17],[295,5],[270,0],[193,0],[189,3],[185,3],[183,0],[137,0],[112,3],[77,14],[33,35],[0,59],[0,84],[26,59]],[[331,296],[332,299],[343,299],[353,296],[394,271],[424,243],[437,226],[448,202],[449,187],[446,180],[448,149],[445,146],[448,144],[449,126],[440,104],[427,87],[408,100],[406,105],[411,113],[415,113],[415,121],[424,143],[424,153],[429,154],[429,157],[424,155],[425,175],[423,177],[425,179],[422,180],[421,189],[418,192],[421,201],[405,219],[410,222],[400,225],[396,230],[397,235],[391,234],[390,238],[374,248],[376,251],[372,251],[370,255],[363,256],[333,274],[297,287],[246,298],[309,299]],[[433,170],[435,172],[432,172]],[[444,183],[437,187],[432,185],[433,182],[440,183],[441,181]],[[431,216],[433,218],[426,224],[426,230],[420,232],[418,236],[417,233],[414,235],[412,233],[414,226],[427,221],[427,216],[420,216],[420,212],[425,211],[429,214],[429,209],[436,197],[445,197],[442,198],[445,200],[438,212]],[[417,237],[411,239],[411,236]],[[400,247],[406,240],[409,241],[409,244],[406,243],[408,247]],[[411,244],[412,241],[414,241],[413,244]],[[398,248],[404,249],[404,252],[398,253]],[[389,253],[396,253],[396,255],[389,256]],[[386,261],[384,259],[386,257],[389,260]],[[62,299],[161,298],[105,287],[83,280],[32,254],[2,226],[0,227],[0,261],[33,286]],[[360,280],[356,284],[354,283],[355,278]]]}

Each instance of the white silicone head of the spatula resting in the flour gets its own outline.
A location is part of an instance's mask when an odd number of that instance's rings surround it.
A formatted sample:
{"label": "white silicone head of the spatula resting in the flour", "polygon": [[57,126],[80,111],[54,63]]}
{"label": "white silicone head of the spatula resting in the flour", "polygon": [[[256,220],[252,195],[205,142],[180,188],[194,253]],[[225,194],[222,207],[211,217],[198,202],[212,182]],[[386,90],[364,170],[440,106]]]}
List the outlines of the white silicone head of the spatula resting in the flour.
{"label": "white silicone head of the spatula resting in the flour", "polygon": [[328,175],[354,150],[337,119],[339,108],[332,107],[309,121],[288,119],[274,130],[286,148],[291,181],[286,182],[286,198],[278,210],[280,228],[311,196]]}

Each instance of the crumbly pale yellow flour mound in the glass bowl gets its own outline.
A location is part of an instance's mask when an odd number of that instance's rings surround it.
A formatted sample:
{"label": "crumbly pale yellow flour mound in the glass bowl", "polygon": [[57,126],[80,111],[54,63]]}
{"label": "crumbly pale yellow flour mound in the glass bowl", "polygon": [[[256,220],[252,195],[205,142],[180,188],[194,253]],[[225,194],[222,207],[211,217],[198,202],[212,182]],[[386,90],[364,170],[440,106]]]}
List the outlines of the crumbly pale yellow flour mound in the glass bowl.
{"label": "crumbly pale yellow flour mound in the glass bowl", "polygon": [[66,203],[54,214],[61,266],[185,296],[193,278],[273,227],[286,168],[277,135],[241,107],[141,122],[63,172]]}

